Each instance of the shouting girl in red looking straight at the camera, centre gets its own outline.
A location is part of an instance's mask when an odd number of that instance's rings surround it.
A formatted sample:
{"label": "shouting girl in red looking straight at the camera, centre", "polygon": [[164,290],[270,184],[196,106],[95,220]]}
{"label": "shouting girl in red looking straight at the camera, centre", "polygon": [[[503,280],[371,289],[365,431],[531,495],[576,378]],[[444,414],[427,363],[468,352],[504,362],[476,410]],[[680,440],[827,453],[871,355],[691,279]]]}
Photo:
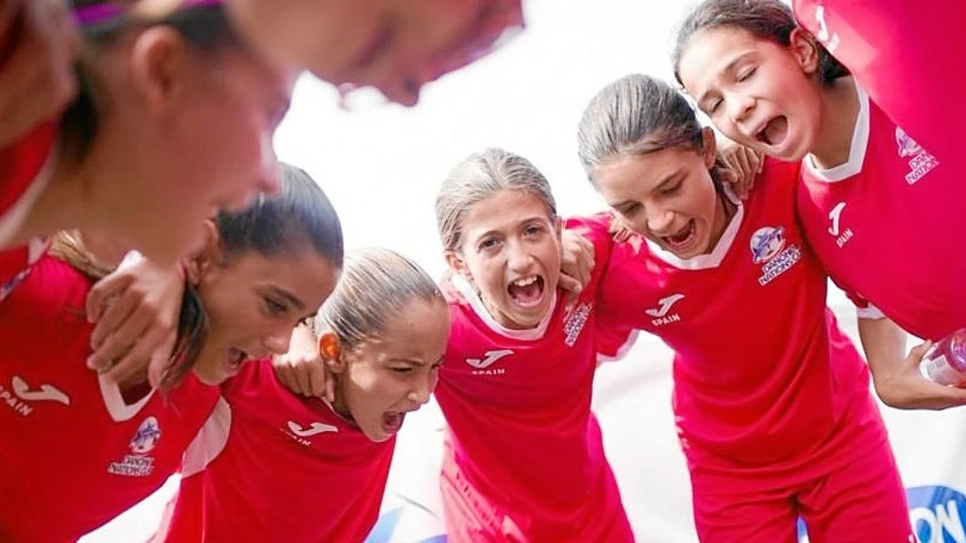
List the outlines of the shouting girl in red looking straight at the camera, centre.
{"label": "shouting girl in red looking straight at the camera, centre", "polygon": [[550,184],[525,158],[488,149],[453,170],[436,211],[452,271],[436,391],[450,541],[633,541],[590,412],[600,272],[575,300],[558,288]]}

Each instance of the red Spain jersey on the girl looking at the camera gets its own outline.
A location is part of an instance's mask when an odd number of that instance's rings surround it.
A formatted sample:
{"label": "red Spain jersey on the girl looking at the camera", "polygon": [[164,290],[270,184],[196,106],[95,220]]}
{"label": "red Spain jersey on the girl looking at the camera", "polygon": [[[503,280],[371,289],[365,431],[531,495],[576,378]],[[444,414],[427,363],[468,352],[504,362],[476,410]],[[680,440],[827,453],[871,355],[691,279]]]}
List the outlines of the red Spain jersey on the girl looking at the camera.
{"label": "red Spain jersey on the girl looking at the camera", "polygon": [[461,278],[444,285],[452,329],[436,397],[450,541],[633,541],[590,413],[599,275],[569,305],[558,293],[531,330],[500,326]]}

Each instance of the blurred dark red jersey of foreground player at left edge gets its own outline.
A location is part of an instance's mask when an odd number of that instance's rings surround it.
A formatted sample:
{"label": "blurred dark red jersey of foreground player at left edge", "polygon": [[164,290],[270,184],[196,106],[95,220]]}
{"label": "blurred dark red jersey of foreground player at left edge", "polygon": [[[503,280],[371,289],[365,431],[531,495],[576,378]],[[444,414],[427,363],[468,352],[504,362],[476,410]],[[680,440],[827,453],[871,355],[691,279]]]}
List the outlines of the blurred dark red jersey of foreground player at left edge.
{"label": "blurred dark red jersey of foreground player at left edge", "polygon": [[56,124],[44,122],[0,149],[0,249],[10,245],[54,166]]}

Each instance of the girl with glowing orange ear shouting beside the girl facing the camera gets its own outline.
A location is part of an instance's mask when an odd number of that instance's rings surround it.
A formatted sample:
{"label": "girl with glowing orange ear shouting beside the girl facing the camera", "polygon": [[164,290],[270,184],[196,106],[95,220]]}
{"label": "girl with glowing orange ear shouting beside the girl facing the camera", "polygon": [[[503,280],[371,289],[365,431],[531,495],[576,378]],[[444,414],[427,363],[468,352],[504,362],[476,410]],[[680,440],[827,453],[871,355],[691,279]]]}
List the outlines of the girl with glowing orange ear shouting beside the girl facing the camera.
{"label": "girl with glowing orange ear shouting beside the girl facing the camera", "polygon": [[449,314],[415,263],[367,250],[346,258],[315,324],[334,400],[290,392],[269,360],[244,367],[188,448],[157,540],[365,539],[396,433],[436,386]]}

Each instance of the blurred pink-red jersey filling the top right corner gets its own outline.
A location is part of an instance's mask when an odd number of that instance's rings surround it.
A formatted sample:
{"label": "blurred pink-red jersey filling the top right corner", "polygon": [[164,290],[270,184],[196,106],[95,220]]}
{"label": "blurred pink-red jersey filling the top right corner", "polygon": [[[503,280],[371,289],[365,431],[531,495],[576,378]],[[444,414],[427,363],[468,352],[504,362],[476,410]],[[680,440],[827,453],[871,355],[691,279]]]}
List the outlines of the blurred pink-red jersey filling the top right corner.
{"label": "blurred pink-red jersey filling the top right corner", "polygon": [[[795,17],[872,101],[943,162],[962,163],[966,103],[960,0],[794,0]],[[960,173],[966,170],[959,168]]]}

